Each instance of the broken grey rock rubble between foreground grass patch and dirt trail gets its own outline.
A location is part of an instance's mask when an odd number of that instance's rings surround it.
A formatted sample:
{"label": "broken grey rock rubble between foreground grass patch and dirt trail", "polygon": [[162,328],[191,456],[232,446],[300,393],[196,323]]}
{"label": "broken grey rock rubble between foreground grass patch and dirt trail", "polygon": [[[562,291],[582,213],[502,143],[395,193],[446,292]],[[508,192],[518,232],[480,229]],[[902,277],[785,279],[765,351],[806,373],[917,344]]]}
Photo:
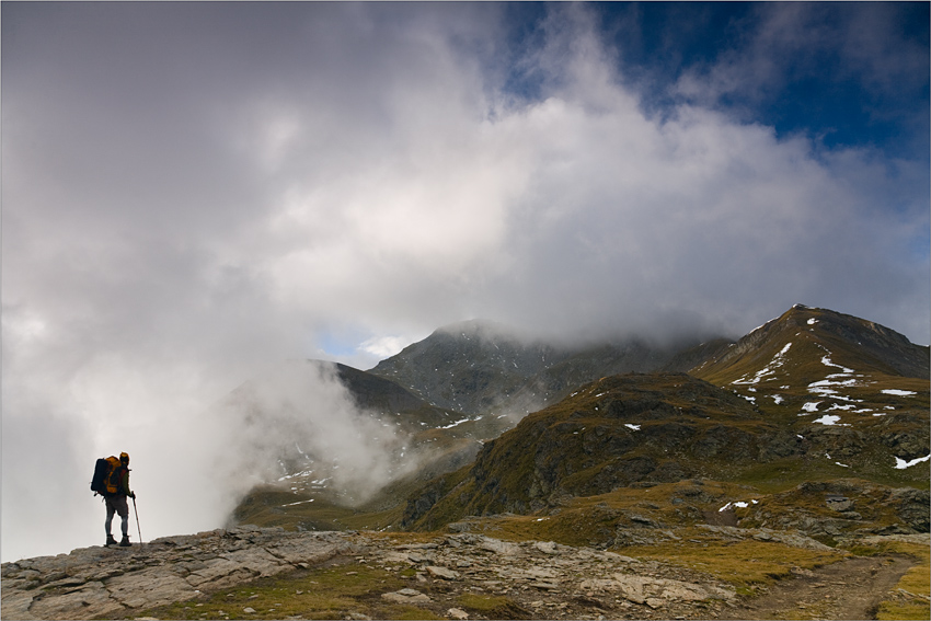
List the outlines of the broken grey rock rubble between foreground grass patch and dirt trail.
{"label": "broken grey rock rubble between foreground grass patch and dirt trail", "polygon": [[[698,601],[714,609],[736,599],[729,585],[683,567],[552,541],[516,543],[472,532],[449,534],[430,543],[398,545],[379,559],[368,557],[367,562],[413,567],[416,579],[424,585],[441,579],[452,590],[459,587],[508,594],[522,611],[510,611],[504,618],[583,618],[583,611],[590,616],[591,610],[622,616],[639,610],[639,618],[656,613],[673,618]],[[381,597],[440,605],[428,601],[416,589]],[[518,616],[513,616],[514,612]],[[446,616],[460,618],[453,609],[446,610]]]}

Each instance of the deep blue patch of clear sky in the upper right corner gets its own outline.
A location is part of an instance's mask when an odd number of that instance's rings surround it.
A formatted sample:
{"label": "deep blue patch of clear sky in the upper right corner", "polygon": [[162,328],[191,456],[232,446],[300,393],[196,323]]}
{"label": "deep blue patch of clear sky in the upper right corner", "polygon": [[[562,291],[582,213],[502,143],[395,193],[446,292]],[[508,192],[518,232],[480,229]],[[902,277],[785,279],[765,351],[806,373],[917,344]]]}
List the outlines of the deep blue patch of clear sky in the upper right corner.
{"label": "deep blue patch of clear sky in the upper right corner", "polygon": [[[599,9],[601,27],[617,32],[612,42],[622,67],[655,81],[656,99],[666,105],[676,101],[675,83],[683,77],[755,76],[693,101],[770,125],[779,136],[804,133],[826,148],[928,156],[928,3],[647,2]],[[631,22],[640,36],[624,27]]]}

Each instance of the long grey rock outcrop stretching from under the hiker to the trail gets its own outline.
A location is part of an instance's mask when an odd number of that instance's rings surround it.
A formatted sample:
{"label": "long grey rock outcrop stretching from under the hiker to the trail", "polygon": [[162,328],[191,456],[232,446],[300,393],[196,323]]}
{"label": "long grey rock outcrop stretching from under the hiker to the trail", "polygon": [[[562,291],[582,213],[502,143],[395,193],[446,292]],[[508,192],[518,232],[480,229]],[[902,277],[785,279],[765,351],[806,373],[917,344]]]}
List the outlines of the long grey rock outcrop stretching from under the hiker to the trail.
{"label": "long grey rock outcrop stretching from under the hiker to the trail", "polygon": [[698,601],[708,610],[735,599],[733,587],[683,567],[551,541],[516,543],[465,532],[396,543],[377,533],[246,527],[5,563],[2,617],[133,618],[262,576],[333,562],[337,555],[403,574],[413,583],[380,594],[372,585],[380,599],[452,619],[469,617],[456,606],[457,594],[463,593],[506,594],[513,608],[499,611],[506,618],[579,618],[585,611],[613,609],[627,614],[641,610],[639,618],[670,618]]}

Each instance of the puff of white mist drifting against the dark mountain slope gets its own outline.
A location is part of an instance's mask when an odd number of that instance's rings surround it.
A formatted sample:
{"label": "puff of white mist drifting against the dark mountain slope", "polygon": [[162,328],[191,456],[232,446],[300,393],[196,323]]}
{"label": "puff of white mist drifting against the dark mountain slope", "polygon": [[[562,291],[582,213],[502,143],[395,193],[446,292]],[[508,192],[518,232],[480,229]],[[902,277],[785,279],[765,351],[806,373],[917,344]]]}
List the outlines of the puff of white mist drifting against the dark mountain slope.
{"label": "puff of white mist drifting against the dark mountain slope", "polygon": [[240,499],[254,485],[312,465],[314,479],[330,480],[343,504],[357,506],[417,465],[399,463],[410,438],[379,414],[356,405],[335,365],[285,363],[212,409],[209,470]]}

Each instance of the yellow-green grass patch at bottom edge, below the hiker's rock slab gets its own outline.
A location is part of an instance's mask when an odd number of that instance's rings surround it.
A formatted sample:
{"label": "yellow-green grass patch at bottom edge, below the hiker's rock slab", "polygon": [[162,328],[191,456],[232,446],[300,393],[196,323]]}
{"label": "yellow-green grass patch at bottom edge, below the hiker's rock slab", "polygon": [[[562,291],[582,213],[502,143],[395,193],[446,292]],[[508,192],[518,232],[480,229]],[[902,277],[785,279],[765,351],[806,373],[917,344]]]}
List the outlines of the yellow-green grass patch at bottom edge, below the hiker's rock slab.
{"label": "yellow-green grass patch at bottom edge, below the hiker's rock slab", "polygon": [[200,600],[176,602],[137,616],[159,619],[440,619],[429,610],[392,603],[381,594],[405,588],[399,574],[366,564],[342,564],[264,578]]}

